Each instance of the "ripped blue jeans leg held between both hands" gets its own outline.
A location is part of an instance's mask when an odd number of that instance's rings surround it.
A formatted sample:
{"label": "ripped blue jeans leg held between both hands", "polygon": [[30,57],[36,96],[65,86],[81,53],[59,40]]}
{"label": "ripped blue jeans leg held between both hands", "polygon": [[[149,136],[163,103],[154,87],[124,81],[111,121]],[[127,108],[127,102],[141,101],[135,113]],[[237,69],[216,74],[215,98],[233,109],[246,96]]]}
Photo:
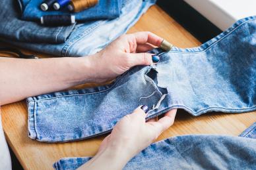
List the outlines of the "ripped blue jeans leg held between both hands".
{"label": "ripped blue jeans leg held between both hands", "polygon": [[200,47],[152,53],[156,66],[136,66],[110,85],[28,98],[29,137],[65,142],[108,133],[143,104],[147,119],[173,108],[193,116],[256,110],[256,16]]}

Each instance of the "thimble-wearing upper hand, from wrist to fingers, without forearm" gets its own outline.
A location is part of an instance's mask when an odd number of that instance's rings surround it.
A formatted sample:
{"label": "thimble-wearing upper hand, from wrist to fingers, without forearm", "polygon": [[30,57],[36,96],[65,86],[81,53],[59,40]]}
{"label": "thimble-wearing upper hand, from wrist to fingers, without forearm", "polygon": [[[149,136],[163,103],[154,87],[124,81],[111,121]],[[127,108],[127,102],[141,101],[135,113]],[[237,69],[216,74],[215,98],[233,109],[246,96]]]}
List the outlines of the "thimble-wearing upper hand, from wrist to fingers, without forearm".
{"label": "thimble-wearing upper hand, from wrist to fingers, without forearm", "polygon": [[[114,79],[133,66],[152,64],[152,54],[145,52],[160,47],[162,40],[161,37],[150,32],[121,35],[106,49],[92,56],[86,56],[90,58],[91,81],[102,83]],[[153,56],[153,61],[158,62],[159,57]]]}

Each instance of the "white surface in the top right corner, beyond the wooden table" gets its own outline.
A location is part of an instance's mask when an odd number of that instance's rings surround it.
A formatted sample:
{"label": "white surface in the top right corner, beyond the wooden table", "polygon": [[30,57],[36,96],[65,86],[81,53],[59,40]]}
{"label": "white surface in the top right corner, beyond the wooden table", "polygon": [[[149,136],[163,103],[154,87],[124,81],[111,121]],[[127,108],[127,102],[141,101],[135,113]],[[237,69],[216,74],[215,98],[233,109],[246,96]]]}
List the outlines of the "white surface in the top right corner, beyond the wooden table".
{"label": "white surface in the top right corner, beyond the wooden table", "polygon": [[256,0],[184,0],[220,30],[234,22],[256,15]]}

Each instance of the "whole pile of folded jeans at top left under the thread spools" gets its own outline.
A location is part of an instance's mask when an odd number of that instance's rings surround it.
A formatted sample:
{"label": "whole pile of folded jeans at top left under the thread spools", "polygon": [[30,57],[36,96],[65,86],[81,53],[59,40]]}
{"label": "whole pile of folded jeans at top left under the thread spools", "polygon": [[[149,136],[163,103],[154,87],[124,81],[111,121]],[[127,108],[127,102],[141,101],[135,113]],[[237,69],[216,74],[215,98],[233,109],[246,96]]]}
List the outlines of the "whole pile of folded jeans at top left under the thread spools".
{"label": "whole pile of folded jeans at top left under the thread spools", "polygon": [[[43,15],[39,9],[42,1],[2,0],[5,5],[0,11],[0,41],[55,56],[94,54],[127,32],[155,2],[108,0],[105,5],[110,4],[109,12],[104,12],[104,7],[91,8],[84,14],[79,12],[79,22],[71,26],[47,27],[37,22]],[[93,13],[99,10],[102,12]]]}

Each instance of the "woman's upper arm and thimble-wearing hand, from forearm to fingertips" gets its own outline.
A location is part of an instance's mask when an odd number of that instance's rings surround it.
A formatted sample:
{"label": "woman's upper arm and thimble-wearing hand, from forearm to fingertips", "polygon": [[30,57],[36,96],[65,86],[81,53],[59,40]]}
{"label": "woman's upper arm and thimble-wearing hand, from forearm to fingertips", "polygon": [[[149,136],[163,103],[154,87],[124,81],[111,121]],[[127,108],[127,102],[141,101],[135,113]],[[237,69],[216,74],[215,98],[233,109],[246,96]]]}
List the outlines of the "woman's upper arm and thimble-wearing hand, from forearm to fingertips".
{"label": "woman's upper arm and thimble-wearing hand, from forearm to fingertips", "polygon": [[[82,83],[102,83],[133,66],[150,65],[152,54],[144,52],[152,45],[159,47],[162,40],[153,33],[138,32],[122,35],[91,56],[38,60],[0,57],[0,105]],[[158,62],[158,56],[153,58]]]}

